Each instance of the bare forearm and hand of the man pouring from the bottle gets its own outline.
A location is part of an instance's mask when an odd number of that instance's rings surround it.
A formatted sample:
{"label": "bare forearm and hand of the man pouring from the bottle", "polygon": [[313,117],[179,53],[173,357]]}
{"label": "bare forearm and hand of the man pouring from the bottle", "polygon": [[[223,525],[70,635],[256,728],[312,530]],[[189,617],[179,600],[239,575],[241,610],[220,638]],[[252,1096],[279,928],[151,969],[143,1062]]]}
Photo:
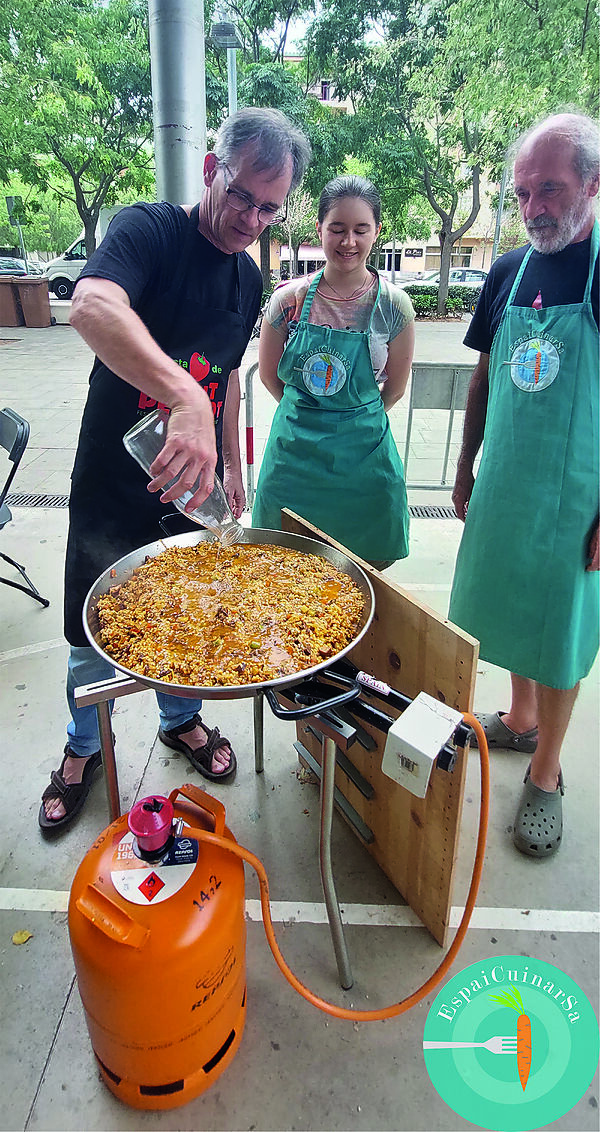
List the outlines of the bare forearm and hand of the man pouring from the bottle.
{"label": "bare forearm and hand of the man pouring from the bottle", "polygon": [[187,509],[197,507],[213,487],[216,441],[213,410],[205,391],[169,358],[131,310],[127,292],[95,276],[80,280],[71,305],[71,326],[118,377],[171,410],[164,448],[152,465],[148,489],[158,491],[181,473],[161,496],[177,499],[200,477]]}

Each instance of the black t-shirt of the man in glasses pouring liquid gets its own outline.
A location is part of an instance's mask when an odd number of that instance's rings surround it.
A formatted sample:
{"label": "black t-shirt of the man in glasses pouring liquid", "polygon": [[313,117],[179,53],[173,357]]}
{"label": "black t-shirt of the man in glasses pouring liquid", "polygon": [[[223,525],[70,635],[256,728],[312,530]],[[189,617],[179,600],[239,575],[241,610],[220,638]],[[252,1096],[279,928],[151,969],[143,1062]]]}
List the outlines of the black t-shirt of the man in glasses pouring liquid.
{"label": "black t-shirt of the man in glasses pouring liquid", "polygon": [[[136,204],[122,208],[111,221],[109,231],[91,256],[79,278],[86,275],[110,280],[127,291],[131,308],[153,333],[152,312],[161,294],[173,286],[189,216],[179,205]],[[260,272],[246,252],[228,255],[215,248],[200,232],[195,233],[197,254],[191,257],[189,272],[196,273],[200,293],[207,306],[223,310],[237,308],[235,260],[240,274],[240,312],[250,337],[258,317],[263,295]],[[185,302],[182,288],[181,299]],[[243,353],[232,369],[241,363]],[[96,358],[92,377],[101,362]]]}

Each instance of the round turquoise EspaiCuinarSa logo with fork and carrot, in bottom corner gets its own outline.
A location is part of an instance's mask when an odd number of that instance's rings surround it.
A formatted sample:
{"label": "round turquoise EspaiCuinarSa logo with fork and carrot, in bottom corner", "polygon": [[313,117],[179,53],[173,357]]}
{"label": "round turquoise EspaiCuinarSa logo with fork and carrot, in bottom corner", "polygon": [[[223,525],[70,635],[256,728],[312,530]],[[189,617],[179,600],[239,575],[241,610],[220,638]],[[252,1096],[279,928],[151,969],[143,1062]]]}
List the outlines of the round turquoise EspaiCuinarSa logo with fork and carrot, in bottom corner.
{"label": "round turquoise EspaiCuinarSa logo with fork and carrot, in bottom corner", "polygon": [[568,975],[502,955],[446,983],[427,1017],[423,1056],[434,1088],[464,1120],[525,1132],[581,1100],[599,1044],[592,1006]]}

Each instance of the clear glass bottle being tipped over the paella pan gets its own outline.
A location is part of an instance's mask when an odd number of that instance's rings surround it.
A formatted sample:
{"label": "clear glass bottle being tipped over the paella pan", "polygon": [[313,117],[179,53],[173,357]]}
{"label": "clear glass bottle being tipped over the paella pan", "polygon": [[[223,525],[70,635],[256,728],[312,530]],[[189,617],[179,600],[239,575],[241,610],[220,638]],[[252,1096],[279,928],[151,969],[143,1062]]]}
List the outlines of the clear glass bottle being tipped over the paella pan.
{"label": "clear glass bottle being tipped over the paella pan", "polygon": [[[123,444],[134,460],[137,460],[140,468],[145,472],[151,474],[151,465],[156,460],[156,456],[164,447],[166,440],[166,424],[169,421],[169,410],[168,409],[156,409],[155,412],[148,413],[143,420],[134,424],[134,428],[129,429],[123,436]],[[181,472],[174,475],[172,480],[162,488],[163,491],[168,491],[173,483],[177,483]],[[234,542],[240,542],[243,535],[243,528],[233,517],[233,513],[228,503],[228,497],[225,490],[218,475],[215,475],[214,488],[211,495],[194,511],[186,511],[186,504],[189,503],[195,491],[198,490],[199,478],[196,480],[194,487],[189,491],[185,491],[182,495],[173,499],[175,507],[191,518],[194,523],[198,523],[199,526],[205,526],[213,534],[216,534],[221,542],[225,547],[232,546]]]}

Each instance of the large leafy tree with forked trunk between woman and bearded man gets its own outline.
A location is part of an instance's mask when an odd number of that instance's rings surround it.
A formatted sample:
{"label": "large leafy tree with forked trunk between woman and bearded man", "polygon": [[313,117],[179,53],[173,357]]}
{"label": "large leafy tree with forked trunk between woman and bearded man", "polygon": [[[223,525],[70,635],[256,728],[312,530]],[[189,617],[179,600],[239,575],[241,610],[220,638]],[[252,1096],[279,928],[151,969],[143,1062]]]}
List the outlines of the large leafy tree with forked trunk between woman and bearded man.
{"label": "large leafy tree with forked trunk between woman and bearded man", "polygon": [[[577,92],[595,106],[594,0],[335,0],[307,35],[310,74],[355,109],[357,143],[396,223],[421,194],[438,220],[445,310],[452,247],[475,220],[483,172]],[[307,65],[308,66],[308,65]]]}

